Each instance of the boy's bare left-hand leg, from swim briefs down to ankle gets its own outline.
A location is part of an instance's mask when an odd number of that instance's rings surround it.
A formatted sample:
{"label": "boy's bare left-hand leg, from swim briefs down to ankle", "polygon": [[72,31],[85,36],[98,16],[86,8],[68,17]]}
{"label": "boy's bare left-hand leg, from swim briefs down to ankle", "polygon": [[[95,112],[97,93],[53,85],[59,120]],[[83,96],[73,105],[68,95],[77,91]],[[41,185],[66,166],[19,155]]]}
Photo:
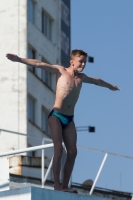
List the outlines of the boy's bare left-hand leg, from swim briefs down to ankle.
{"label": "boy's bare left-hand leg, from swim briefs down to ankle", "polygon": [[60,185],[60,168],[61,157],[63,152],[62,147],[62,126],[55,116],[48,119],[51,130],[52,140],[54,143],[54,159],[53,159],[53,174],[54,174],[54,188],[55,190],[62,190]]}

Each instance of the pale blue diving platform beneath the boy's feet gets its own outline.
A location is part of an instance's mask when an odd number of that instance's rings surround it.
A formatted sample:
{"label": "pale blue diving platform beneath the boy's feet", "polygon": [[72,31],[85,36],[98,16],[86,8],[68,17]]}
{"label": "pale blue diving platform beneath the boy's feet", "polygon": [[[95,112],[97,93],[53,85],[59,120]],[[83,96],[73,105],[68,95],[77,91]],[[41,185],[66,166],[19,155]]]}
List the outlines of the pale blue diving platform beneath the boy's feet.
{"label": "pale blue diving platform beneath the boy's feet", "polygon": [[[73,194],[39,187],[23,187],[0,192],[0,200],[106,200],[106,198]],[[109,200],[109,199],[108,199]]]}

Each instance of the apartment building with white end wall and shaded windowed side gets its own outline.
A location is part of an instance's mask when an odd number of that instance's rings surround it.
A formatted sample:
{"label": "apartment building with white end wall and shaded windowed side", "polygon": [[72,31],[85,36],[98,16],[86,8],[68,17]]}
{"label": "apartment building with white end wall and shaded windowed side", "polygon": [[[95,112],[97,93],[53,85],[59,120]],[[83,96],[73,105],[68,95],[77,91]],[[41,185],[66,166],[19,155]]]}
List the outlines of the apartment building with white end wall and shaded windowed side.
{"label": "apartment building with white end wall and shaded windowed side", "polygon": [[[55,99],[55,75],[11,62],[5,55],[13,53],[61,64],[64,51],[61,23],[68,14],[67,2],[63,0],[64,10],[61,12],[61,0],[1,0],[0,129],[25,134],[1,131],[1,152],[41,145],[44,137],[51,138],[47,117]],[[51,158],[52,148],[45,154]],[[25,155],[39,157],[41,152]]]}

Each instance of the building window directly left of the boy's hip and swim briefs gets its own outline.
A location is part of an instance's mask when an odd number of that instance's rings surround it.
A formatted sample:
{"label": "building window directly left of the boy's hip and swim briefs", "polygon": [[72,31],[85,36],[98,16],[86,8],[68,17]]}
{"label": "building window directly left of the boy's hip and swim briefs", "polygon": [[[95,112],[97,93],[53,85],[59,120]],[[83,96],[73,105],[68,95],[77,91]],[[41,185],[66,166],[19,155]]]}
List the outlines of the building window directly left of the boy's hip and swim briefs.
{"label": "building window directly left of the boy's hip and swim briefs", "polygon": [[42,108],[42,130],[50,135],[50,128],[48,125],[48,113],[45,108]]}

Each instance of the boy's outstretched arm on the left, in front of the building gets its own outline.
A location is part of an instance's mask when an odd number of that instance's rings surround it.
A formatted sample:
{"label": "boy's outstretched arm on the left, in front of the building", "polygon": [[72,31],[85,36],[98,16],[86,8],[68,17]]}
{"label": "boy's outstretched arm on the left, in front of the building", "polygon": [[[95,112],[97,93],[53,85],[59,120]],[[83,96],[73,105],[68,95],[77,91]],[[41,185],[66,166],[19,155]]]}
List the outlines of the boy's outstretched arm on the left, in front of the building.
{"label": "boy's outstretched arm on the left, in front of the building", "polygon": [[13,62],[20,62],[26,65],[31,65],[33,67],[42,68],[51,73],[57,73],[61,68],[61,66],[59,65],[50,65],[48,63],[44,63],[36,59],[20,58],[17,55],[10,53],[6,54],[6,57]]}

